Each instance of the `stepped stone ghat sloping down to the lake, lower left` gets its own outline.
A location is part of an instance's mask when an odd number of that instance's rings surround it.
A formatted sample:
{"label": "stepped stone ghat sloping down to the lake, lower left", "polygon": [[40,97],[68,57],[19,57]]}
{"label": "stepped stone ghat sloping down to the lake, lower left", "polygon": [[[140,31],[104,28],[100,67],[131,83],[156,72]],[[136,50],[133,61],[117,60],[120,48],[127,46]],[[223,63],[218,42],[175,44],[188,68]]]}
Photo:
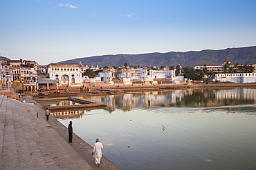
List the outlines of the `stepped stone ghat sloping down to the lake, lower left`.
{"label": "stepped stone ghat sloping down to the lake, lower left", "polygon": [[20,100],[0,95],[0,169],[120,169],[104,156],[96,166],[90,145],[75,134],[69,144],[64,125],[46,121],[29,96]]}

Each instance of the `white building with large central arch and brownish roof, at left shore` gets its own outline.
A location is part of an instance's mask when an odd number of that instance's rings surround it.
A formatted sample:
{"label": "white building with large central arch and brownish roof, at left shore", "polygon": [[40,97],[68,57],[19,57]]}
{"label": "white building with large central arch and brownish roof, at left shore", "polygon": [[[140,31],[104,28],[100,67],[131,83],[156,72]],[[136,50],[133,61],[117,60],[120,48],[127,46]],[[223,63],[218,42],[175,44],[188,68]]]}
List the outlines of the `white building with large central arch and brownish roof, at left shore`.
{"label": "white building with large central arch and brownish roof, at left shore", "polygon": [[81,86],[83,67],[80,64],[48,65],[49,78],[56,80],[59,86]]}

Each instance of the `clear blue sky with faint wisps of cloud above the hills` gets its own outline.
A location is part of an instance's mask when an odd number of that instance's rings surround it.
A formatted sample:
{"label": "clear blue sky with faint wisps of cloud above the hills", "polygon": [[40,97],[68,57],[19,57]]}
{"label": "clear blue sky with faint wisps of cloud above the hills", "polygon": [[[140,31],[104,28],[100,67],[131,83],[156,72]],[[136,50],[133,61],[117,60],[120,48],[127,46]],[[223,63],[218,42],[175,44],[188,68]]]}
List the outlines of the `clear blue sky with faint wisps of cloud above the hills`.
{"label": "clear blue sky with faint wisps of cloud above the hills", "polygon": [[255,0],[0,0],[1,56],[40,65],[255,45]]}

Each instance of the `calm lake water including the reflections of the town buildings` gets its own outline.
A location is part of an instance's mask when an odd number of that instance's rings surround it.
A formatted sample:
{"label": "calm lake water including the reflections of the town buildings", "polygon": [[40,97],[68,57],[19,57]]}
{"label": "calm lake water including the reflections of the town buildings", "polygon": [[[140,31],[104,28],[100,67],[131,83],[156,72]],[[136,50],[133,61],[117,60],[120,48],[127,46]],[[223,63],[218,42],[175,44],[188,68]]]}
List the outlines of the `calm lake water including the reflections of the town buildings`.
{"label": "calm lake water including the reflections of the town buildings", "polygon": [[84,98],[108,107],[53,114],[121,169],[256,169],[256,89]]}

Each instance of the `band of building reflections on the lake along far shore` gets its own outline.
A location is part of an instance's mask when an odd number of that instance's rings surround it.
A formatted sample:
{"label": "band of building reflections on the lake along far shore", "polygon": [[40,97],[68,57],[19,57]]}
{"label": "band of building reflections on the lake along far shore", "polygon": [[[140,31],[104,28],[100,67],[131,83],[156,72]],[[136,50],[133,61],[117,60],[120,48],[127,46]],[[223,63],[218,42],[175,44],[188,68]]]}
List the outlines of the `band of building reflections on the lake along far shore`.
{"label": "band of building reflections on the lake along far shore", "polygon": [[255,104],[256,89],[186,89],[84,98],[107,104],[106,109],[109,112],[116,108],[130,111],[135,108],[151,107],[217,107]]}

